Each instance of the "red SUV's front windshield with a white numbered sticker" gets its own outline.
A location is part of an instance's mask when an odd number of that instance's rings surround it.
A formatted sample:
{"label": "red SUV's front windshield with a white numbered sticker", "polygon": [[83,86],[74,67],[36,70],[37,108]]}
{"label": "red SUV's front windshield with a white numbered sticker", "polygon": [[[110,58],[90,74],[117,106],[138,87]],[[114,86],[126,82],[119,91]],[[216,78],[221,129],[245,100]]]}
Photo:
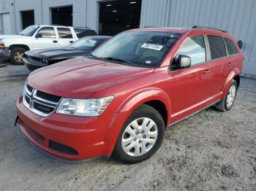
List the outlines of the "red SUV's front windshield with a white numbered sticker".
{"label": "red SUV's front windshield with a white numbered sticker", "polygon": [[91,58],[157,67],[179,36],[167,32],[124,32],[94,50]]}

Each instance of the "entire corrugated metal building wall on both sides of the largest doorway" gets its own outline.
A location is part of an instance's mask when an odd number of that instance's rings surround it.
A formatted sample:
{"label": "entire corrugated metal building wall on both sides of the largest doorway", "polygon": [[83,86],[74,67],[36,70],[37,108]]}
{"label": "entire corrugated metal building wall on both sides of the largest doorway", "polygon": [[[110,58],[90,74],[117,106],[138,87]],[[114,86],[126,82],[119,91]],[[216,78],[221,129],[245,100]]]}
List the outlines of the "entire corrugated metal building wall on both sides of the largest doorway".
{"label": "entire corrugated metal building wall on both sides of the largest doorway", "polygon": [[[50,24],[50,7],[72,5],[73,25],[98,31],[98,1],[104,0],[0,0],[0,14],[10,12],[12,34],[16,34],[21,31],[20,11],[34,9],[36,24]],[[256,76],[255,10],[255,0],[142,0],[140,27],[200,25],[225,29],[244,42],[243,73]]]}

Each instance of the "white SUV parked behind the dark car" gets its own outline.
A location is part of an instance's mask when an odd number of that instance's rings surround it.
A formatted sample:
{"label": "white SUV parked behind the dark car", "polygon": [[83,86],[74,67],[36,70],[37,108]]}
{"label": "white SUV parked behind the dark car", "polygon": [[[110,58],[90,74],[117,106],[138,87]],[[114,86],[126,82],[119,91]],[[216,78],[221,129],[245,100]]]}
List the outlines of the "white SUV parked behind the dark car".
{"label": "white SUV parked behind the dark car", "polygon": [[28,26],[18,35],[0,35],[0,57],[13,64],[23,64],[27,50],[65,47],[83,36],[97,35],[90,28],[68,26]]}

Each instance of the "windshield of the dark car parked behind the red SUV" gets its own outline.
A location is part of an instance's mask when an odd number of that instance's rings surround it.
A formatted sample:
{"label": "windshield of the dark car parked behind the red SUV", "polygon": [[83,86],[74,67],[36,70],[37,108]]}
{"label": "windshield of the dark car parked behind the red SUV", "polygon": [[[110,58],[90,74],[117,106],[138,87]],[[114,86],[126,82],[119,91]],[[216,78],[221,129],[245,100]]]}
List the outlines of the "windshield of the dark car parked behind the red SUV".
{"label": "windshield of the dark car parked behind the red SUV", "polygon": [[68,47],[80,49],[80,50],[94,50],[97,45],[105,39],[97,39],[95,37],[84,37],[83,39],[79,39],[72,44],[69,44]]}

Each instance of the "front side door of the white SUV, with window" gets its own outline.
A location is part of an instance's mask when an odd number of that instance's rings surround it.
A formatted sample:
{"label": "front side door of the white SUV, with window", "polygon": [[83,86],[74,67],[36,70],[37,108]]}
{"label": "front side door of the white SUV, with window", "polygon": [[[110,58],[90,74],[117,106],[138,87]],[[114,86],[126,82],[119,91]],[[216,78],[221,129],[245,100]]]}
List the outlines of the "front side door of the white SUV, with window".
{"label": "front side door of the white SUV, with window", "polygon": [[37,31],[33,39],[33,48],[42,49],[58,47],[58,39],[53,27],[42,27]]}

